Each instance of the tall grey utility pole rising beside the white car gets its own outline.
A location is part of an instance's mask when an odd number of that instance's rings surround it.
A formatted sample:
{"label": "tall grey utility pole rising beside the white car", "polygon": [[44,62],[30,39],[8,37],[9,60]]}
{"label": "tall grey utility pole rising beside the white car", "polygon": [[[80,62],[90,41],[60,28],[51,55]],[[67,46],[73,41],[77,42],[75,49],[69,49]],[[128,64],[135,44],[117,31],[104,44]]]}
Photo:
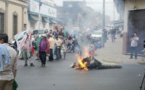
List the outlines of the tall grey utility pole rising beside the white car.
{"label": "tall grey utility pole rising beside the white car", "polygon": [[103,39],[102,39],[102,44],[104,47],[104,43],[105,43],[105,0],[103,0],[103,18],[102,18],[102,31],[103,31]]}

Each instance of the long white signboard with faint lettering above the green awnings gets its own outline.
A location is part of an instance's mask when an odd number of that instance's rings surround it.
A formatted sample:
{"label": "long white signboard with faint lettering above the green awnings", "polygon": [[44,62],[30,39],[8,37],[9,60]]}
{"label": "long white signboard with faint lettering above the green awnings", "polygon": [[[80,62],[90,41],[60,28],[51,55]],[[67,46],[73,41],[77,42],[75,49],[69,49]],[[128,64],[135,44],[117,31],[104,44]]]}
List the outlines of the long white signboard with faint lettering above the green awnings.
{"label": "long white signboard with faint lettering above the green awnings", "polygon": [[[30,0],[29,2],[29,11],[32,13],[39,14],[39,2],[36,0]],[[49,17],[54,17],[56,18],[56,9],[48,6],[46,4],[42,4],[40,8],[40,14],[49,16]]]}

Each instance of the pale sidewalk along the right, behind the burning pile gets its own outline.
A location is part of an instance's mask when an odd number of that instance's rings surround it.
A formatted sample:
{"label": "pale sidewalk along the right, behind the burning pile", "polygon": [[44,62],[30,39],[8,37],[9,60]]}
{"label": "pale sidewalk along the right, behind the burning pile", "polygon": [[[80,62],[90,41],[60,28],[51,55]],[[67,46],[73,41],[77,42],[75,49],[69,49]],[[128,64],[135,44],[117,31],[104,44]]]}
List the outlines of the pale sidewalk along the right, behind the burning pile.
{"label": "pale sidewalk along the right, behind the burning pile", "polygon": [[114,63],[125,63],[125,64],[145,64],[145,61],[142,61],[141,57],[138,56],[137,60],[129,59],[129,55],[122,54],[122,44],[123,40],[121,37],[117,36],[115,42],[112,43],[111,39],[107,40],[105,47],[98,49],[96,51],[98,60],[103,60],[106,62]]}

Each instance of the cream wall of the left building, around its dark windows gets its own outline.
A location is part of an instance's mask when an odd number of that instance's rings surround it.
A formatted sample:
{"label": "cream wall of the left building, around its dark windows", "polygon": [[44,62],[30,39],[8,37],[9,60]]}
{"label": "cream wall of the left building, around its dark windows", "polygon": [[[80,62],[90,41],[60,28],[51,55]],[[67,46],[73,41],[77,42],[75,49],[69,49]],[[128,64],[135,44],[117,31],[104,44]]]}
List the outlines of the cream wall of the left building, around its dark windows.
{"label": "cream wall of the left building, around its dark windows", "polygon": [[27,3],[18,0],[0,0],[0,9],[4,9],[5,14],[5,33],[8,34],[9,38],[13,37],[13,15],[14,13],[18,16],[18,32],[24,29],[24,24],[27,25]]}

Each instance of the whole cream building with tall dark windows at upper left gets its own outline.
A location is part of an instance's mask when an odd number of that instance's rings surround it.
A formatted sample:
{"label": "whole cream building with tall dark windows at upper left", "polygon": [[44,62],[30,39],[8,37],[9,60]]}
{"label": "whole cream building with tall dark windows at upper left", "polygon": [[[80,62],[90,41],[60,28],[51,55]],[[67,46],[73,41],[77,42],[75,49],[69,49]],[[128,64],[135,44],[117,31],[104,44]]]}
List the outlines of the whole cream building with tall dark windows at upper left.
{"label": "whole cream building with tall dark windows at upper left", "polygon": [[12,38],[27,27],[27,0],[0,0],[0,33]]}

